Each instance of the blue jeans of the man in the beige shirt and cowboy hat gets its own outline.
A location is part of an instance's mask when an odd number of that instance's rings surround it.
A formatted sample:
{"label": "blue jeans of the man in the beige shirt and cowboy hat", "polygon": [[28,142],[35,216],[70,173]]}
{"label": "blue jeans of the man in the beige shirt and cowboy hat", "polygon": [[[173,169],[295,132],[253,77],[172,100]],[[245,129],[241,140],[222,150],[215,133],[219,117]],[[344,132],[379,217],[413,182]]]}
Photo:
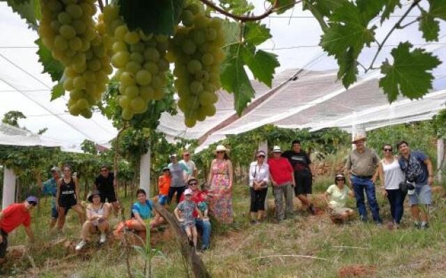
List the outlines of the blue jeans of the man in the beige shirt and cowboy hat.
{"label": "blue jeans of the man in the beige shirt and cowboy hat", "polygon": [[381,222],[381,219],[379,218],[379,206],[378,202],[376,202],[375,185],[373,181],[371,181],[371,179],[363,179],[360,177],[356,177],[355,175],[352,174],[351,182],[353,183],[353,190],[355,190],[356,207],[358,213],[360,213],[360,218],[363,221],[367,221],[367,210],[364,204],[364,190],[365,190],[371,215],[373,216],[375,222]]}

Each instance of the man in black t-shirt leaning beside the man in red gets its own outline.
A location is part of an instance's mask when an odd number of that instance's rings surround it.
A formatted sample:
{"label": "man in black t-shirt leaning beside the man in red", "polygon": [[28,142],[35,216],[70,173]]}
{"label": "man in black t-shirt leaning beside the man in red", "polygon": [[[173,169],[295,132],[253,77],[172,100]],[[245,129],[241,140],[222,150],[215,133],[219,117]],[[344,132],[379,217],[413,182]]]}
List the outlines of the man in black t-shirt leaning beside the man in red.
{"label": "man in black t-shirt leaning beside the man in red", "polygon": [[313,174],[309,168],[312,161],[309,155],[300,149],[300,140],[294,140],[292,147],[292,150],[284,152],[282,156],[288,158],[291,166],[293,166],[295,197],[298,197],[300,202],[305,204],[312,214],[316,214],[316,208],[314,208],[313,204],[307,198],[307,194],[312,194]]}

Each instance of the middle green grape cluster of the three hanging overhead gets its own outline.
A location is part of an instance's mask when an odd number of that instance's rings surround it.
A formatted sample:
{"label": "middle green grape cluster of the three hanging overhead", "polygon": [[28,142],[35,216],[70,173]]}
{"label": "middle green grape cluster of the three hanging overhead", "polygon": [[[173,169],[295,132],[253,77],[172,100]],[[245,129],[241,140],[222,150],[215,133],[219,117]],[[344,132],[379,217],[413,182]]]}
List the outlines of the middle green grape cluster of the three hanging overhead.
{"label": "middle green grape cluster of the three hanging overhead", "polygon": [[169,62],[164,58],[168,38],[129,31],[114,6],[105,7],[104,22],[107,33],[114,39],[112,65],[117,69],[121,94],[118,104],[123,109],[123,119],[131,120],[135,114],[147,111],[149,101],[164,96],[165,73],[169,70]]}

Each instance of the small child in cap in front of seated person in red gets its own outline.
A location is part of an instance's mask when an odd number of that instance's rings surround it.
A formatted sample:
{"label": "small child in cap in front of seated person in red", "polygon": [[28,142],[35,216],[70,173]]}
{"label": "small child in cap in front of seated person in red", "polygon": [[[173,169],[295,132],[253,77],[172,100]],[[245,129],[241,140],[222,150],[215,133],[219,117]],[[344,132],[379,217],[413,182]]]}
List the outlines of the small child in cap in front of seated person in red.
{"label": "small child in cap in front of seated person in red", "polygon": [[[187,238],[189,241],[194,243],[194,248],[197,251],[197,227],[195,227],[195,219],[193,213],[196,212],[199,215],[199,218],[203,218],[201,216],[201,211],[198,209],[197,204],[192,201],[192,190],[187,188],[184,192],[185,199],[178,204],[175,208],[175,216],[180,222],[180,226],[185,229]],[[180,217],[180,213],[181,216]]]}

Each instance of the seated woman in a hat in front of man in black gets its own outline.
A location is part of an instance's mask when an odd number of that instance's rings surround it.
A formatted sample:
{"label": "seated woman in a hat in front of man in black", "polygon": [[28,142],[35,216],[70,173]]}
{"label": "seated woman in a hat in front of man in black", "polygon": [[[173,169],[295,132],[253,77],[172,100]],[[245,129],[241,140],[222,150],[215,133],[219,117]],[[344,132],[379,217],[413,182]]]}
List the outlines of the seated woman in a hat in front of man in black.
{"label": "seated woman in a hat in front of man in black", "polygon": [[93,193],[88,197],[89,204],[86,207],[86,221],[82,225],[81,242],[76,245],[76,251],[82,250],[89,240],[89,235],[100,232],[99,243],[105,243],[107,240],[107,231],[109,229],[109,213],[110,204],[100,202],[99,190],[93,190]]}

